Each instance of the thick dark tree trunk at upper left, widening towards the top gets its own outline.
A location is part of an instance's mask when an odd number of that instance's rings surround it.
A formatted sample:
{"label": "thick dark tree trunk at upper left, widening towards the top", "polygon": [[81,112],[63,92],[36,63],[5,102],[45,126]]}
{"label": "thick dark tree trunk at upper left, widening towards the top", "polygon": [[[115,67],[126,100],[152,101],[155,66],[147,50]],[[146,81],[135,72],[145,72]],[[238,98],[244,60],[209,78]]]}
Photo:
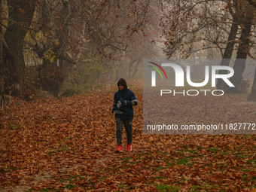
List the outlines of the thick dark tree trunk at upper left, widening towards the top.
{"label": "thick dark tree trunk at upper left, widening towards the top", "polygon": [[[23,41],[32,23],[36,1],[8,0],[8,29],[5,41],[9,50],[4,49],[8,67],[8,92],[14,96],[23,96],[26,91],[25,61]],[[10,54],[11,53],[11,54]]]}

